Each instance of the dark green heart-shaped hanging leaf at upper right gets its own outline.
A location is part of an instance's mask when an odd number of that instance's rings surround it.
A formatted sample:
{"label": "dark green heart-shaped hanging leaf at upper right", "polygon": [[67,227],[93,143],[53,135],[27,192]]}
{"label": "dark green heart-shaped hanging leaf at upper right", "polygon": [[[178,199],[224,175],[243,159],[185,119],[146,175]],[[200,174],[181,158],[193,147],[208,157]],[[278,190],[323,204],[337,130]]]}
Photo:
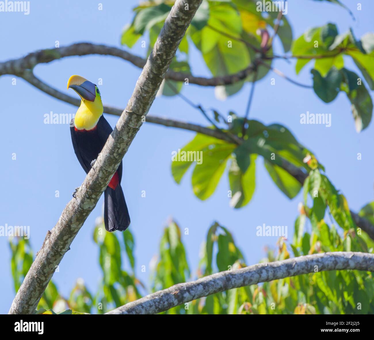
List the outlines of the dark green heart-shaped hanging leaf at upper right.
{"label": "dark green heart-shaped hanging leaf at upper right", "polygon": [[313,74],[313,89],[314,92],[325,103],[334,100],[340,91],[340,83],[342,75],[337,69],[331,69],[326,77],[322,77],[317,70],[311,71]]}

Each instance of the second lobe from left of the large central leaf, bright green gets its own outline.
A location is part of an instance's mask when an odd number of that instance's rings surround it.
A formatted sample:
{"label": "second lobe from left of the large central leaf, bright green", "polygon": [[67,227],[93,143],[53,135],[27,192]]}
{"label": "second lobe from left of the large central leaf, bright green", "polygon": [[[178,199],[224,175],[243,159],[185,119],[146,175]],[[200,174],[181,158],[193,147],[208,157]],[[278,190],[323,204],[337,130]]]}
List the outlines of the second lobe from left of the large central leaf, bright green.
{"label": "second lobe from left of the large central leaf, bright green", "polygon": [[206,200],[215,191],[234,148],[230,144],[215,145],[203,151],[202,163],[197,164],[192,173],[193,192],[200,200]]}

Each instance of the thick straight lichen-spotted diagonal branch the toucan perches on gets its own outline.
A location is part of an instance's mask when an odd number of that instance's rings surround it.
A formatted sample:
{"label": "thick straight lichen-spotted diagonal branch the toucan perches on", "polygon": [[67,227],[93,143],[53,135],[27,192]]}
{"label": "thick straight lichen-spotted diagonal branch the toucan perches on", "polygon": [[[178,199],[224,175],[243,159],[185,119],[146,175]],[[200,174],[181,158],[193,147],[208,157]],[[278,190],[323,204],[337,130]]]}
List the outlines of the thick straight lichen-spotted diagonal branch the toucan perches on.
{"label": "thick straight lichen-spotted diagonal branch the toucan perches on", "polygon": [[116,127],[98,155],[83,184],[65,207],[57,224],[48,231],[24,282],[10,307],[9,314],[34,313],[56,266],[70,249],[102,192],[117,170],[132,140],[142,125],[142,118],[156,97],[178,45],[202,0],[177,0],[154,44],[134,92]]}

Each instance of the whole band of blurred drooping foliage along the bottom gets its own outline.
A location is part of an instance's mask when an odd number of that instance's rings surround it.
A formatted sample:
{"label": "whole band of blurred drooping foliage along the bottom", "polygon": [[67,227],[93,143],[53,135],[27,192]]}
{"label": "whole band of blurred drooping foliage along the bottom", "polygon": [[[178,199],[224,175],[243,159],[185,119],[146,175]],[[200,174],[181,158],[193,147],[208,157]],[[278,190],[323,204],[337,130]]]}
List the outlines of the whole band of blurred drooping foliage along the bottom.
{"label": "whole band of blurred drooping foliage along the bottom", "polygon": [[[294,256],[331,251],[374,252],[374,242],[357,229],[350,219],[344,197],[337,192],[326,194],[331,186],[319,170],[312,170],[304,185],[306,200],[313,197],[312,206],[300,204],[300,215],[295,221],[294,236],[290,240],[281,237],[275,249],[267,249],[261,262],[278,261]],[[316,199],[317,198],[317,199]],[[321,199],[321,202],[319,202]],[[325,221],[324,204],[328,206],[330,223]],[[368,206],[363,208],[368,211]],[[322,206],[322,208],[321,208]],[[373,213],[368,212],[373,218]],[[341,216],[348,221],[343,233],[335,222]],[[307,231],[308,221],[311,231]],[[202,243],[200,262],[196,274],[192,274],[187,261],[183,231],[176,222],[169,222],[160,240],[159,255],[151,262],[151,291],[188,282],[217,271],[234,270],[246,266],[245,258],[230,231],[218,222],[209,228]],[[119,241],[120,237],[122,242]],[[131,233],[107,233],[100,223],[95,227],[94,240],[99,247],[99,264],[103,277],[95,295],[78,279],[68,299],[63,298],[51,281],[38,306],[38,313],[80,314],[104,313],[137,300],[138,288],[144,289],[135,276],[134,240]],[[127,244],[127,246],[126,246]],[[31,255],[28,240],[13,239],[10,242],[12,274],[14,282],[21,282],[28,270],[22,256]],[[27,248],[25,252],[25,248]],[[122,269],[122,255],[129,261],[132,272]],[[30,257],[25,256],[25,259]],[[31,257],[32,258],[32,257]],[[13,260],[12,260],[13,261]],[[14,268],[14,269],[13,269]],[[19,285],[15,285],[18,287]],[[145,291],[145,289],[144,289]],[[287,277],[281,280],[231,289],[174,307],[166,314],[367,314],[374,313],[374,280],[371,272],[344,270]]]}

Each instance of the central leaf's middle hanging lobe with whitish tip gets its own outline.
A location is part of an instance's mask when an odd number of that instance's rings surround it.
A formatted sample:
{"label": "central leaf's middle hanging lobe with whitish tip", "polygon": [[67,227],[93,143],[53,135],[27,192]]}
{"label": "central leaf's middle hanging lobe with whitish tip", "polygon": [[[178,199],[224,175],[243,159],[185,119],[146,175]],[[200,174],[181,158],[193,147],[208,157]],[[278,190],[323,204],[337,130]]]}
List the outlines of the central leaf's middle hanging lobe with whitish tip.
{"label": "central leaf's middle hanging lobe with whitish tip", "polygon": [[255,191],[255,160],[257,155],[250,155],[250,164],[248,169],[243,173],[235,158],[231,162],[229,169],[229,182],[232,198],[230,206],[240,208],[248,204]]}

